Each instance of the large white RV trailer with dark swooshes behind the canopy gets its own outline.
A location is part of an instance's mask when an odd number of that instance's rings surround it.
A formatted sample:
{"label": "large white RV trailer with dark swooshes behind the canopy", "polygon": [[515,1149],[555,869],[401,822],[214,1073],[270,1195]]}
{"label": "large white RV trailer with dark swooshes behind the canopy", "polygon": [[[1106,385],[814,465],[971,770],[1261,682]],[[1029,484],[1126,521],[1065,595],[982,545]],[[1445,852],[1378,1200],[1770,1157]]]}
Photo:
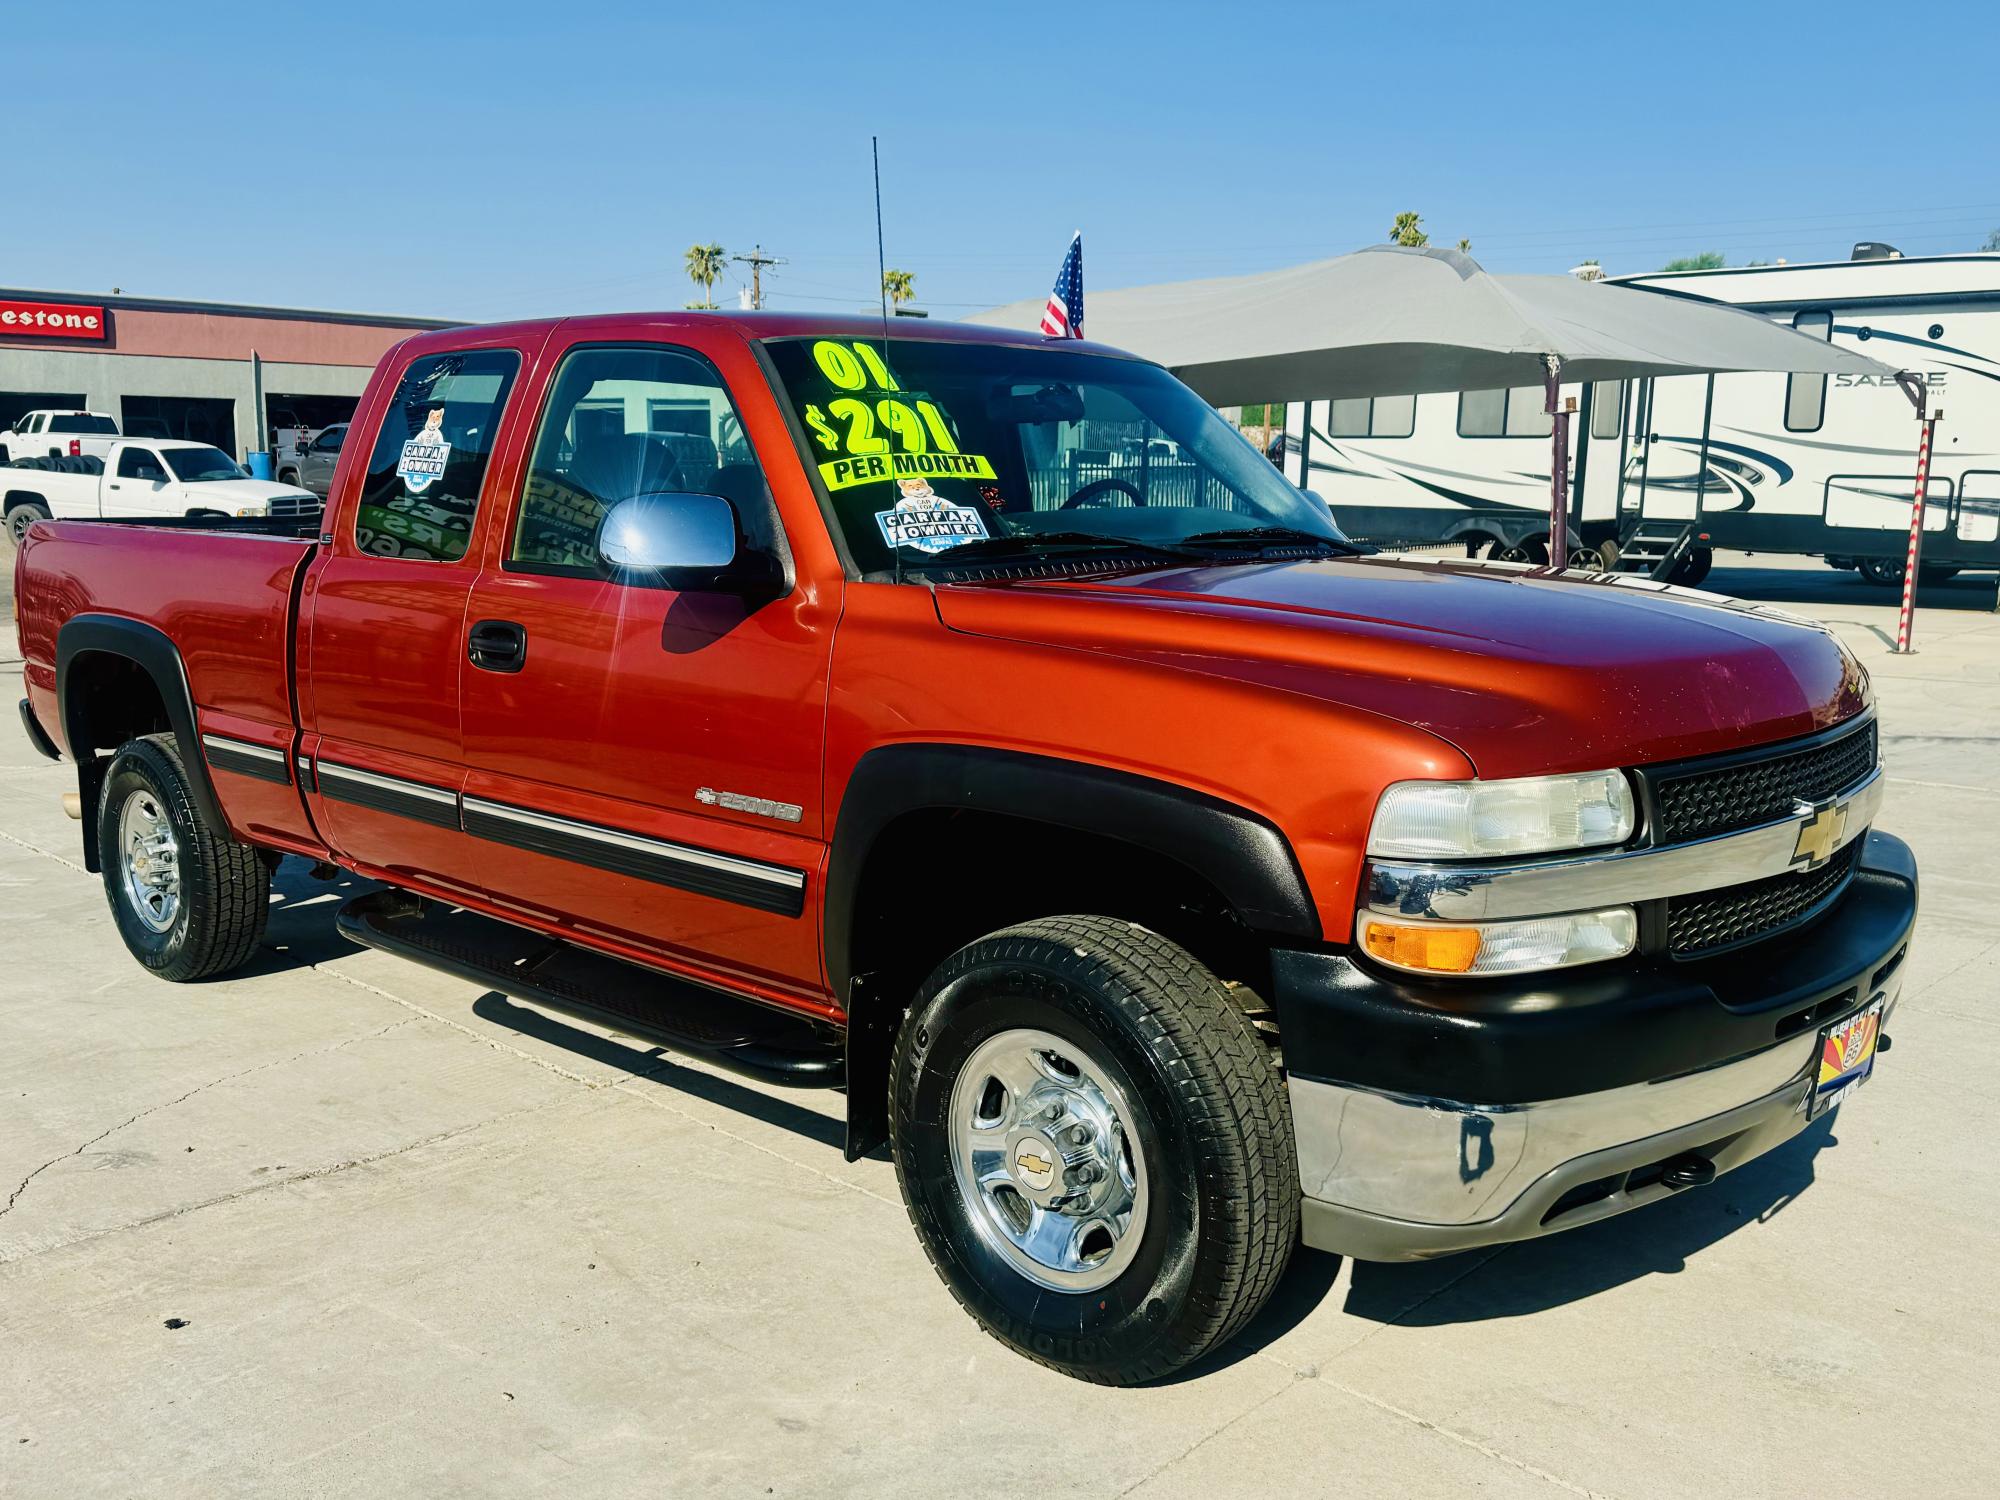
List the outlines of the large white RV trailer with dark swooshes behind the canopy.
{"label": "large white RV trailer with dark swooshes behind the canopy", "polygon": [[[1942,408],[1924,572],[2000,568],[2000,254],[1898,256],[1616,278],[1728,302],[1924,376]],[[1696,582],[1712,548],[1824,556],[1902,576],[1916,412],[1888,378],[1668,376],[1564,386],[1572,562]],[[1540,386],[1292,402],[1286,474],[1382,546],[1546,558]]]}

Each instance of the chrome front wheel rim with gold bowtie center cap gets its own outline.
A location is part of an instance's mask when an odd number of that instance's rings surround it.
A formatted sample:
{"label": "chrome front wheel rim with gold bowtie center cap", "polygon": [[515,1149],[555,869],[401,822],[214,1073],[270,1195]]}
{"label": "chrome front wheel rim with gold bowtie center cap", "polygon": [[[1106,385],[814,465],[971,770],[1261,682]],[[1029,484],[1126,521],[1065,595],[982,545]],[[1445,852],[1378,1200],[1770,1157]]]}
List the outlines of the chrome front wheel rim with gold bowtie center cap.
{"label": "chrome front wheel rim with gold bowtie center cap", "polygon": [[1086,1048],[1050,1032],[986,1038],[952,1084],[952,1172],[980,1238],[1036,1286],[1094,1292],[1146,1228],[1134,1112]]}

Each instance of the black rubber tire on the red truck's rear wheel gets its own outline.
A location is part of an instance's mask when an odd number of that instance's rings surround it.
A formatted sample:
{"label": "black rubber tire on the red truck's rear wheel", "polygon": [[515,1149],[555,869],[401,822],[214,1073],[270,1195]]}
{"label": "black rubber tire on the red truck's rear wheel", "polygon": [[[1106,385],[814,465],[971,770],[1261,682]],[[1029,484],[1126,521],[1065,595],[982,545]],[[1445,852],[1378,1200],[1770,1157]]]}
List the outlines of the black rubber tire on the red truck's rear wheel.
{"label": "black rubber tire on the red truck's rear wheel", "polygon": [[[176,908],[152,920],[140,914],[126,882],[122,820],[134,798],[178,844]],[[228,974],[256,952],[270,902],[270,870],[254,848],[238,844],[228,830],[210,828],[194,810],[174,736],[148,734],[118,748],[98,802],[98,860],[118,936],[162,980],[186,984]],[[156,926],[162,916],[168,920]]]}

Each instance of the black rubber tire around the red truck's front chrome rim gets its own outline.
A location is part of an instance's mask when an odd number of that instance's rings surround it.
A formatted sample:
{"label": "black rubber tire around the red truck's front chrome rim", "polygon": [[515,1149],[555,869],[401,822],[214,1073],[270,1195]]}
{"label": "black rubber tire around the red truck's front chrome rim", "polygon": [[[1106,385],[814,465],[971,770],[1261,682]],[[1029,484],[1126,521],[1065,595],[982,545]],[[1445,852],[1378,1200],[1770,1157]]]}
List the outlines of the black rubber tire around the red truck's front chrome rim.
{"label": "black rubber tire around the red truck's front chrome rim", "polygon": [[[1132,1212],[1126,1232],[1138,1238],[1116,1280],[1084,1292],[1022,1274],[954,1172],[960,1072],[1016,1028],[1102,1068],[1132,1110],[1126,1156],[1160,1184]],[[940,964],[896,1040],[890,1144],[910,1222],[960,1306],[1002,1344],[1080,1380],[1140,1384],[1224,1344],[1298,1242],[1292,1110],[1270,1048],[1214,974],[1130,922],[1042,918]]]}

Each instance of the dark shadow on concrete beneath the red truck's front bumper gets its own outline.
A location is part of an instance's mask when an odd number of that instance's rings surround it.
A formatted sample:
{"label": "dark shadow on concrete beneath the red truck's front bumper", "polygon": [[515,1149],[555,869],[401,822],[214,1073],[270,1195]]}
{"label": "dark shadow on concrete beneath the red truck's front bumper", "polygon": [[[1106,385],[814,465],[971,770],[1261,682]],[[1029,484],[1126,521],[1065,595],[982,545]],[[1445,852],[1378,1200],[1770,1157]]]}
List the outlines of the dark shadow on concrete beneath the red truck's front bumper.
{"label": "dark shadow on concrete beneath the red truck's front bumper", "polygon": [[1384,1324],[1520,1318],[1582,1302],[1642,1276],[1672,1276],[1748,1224],[1768,1224],[1812,1186],[1814,1162],[1838,1146],[1838,1110],[1768,1156],[1676,1198],[1504,1250],[1432,1262],[1354,1262],[1346,1312]]}

